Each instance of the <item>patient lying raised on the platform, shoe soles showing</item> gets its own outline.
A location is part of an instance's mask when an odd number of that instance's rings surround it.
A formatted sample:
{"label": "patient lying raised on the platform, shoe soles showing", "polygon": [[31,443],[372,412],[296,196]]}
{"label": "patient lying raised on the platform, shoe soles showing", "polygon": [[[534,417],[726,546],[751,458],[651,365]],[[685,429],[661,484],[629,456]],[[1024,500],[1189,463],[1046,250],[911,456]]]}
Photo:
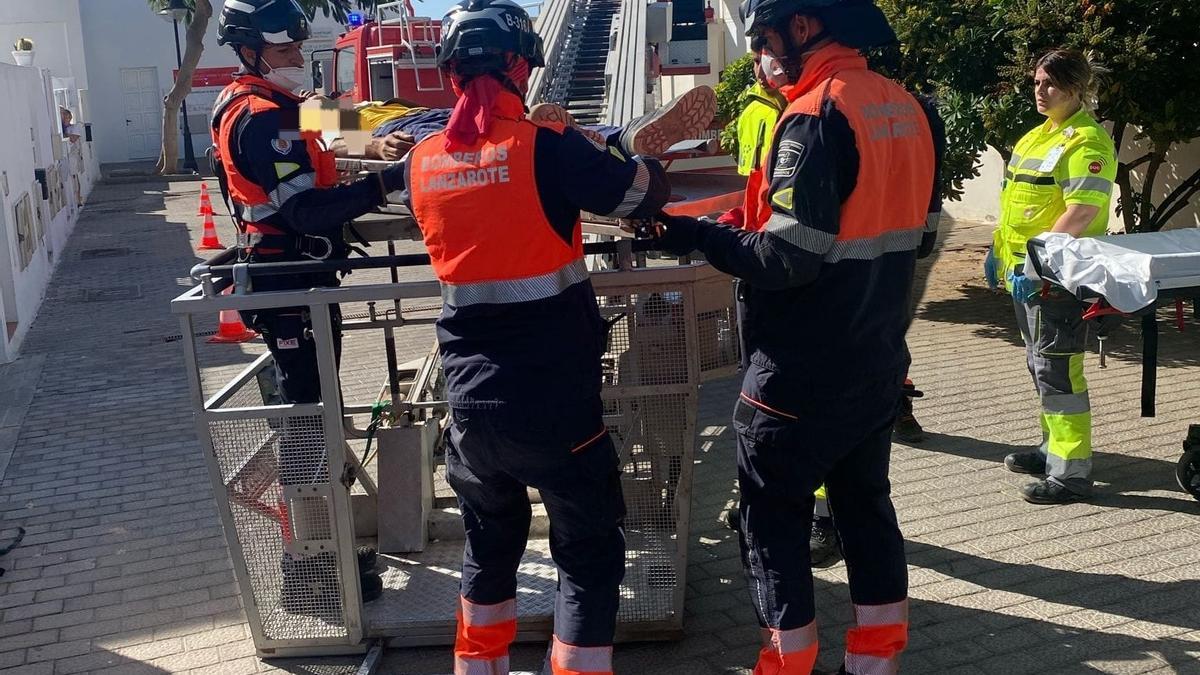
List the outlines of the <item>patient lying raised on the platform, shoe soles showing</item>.
{"label": "patient lying raised on the platform, shoe soles showing", "polygon": [[[365,156],[396,161],[426,136],[444,130],[452,110],[420,108],[394,100],[366,103],[359,106],[356,112],[360,129],[371,130]],[[528,119],[564,124],[598,144],[617,148],[630,156],[659,156],[680,141],[700,138],[708,130],[715,113],[715,94],[712,88],[701,85],[624,127],[580,125],[571,113],[556,103],[535,104],[530,108]],[[349,154],[344,143],[335,143],[334,150],[338,156]]]}

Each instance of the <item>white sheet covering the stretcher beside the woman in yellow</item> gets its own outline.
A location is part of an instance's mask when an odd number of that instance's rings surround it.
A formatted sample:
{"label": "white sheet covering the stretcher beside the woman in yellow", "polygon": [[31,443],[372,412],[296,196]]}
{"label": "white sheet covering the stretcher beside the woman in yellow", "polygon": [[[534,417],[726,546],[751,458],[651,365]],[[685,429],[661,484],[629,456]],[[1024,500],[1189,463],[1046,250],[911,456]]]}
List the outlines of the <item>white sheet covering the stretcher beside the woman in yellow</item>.
{"label": "white sheet covering the stretcher beside the woman in yellow", "polygon": [[[1200,229],[1084,237],[1049,232],[1040,263],[1072,293],[1087,288],[1114,307],[1135,312],[1154,303],[1159,288],[1200,286]],[[1037,277],[1033,263],[1025,274]]]}

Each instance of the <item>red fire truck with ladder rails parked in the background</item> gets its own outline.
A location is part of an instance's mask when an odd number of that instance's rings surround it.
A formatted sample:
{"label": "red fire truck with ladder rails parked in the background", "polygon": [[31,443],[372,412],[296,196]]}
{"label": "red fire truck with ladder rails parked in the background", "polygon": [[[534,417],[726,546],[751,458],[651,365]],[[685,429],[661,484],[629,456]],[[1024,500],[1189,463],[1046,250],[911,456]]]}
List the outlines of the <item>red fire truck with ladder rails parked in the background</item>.
{"label": "red fire truck with ladder rails parked in the background", "polygon": [[430,108],[454,107],[450,80],[434,58],[440,19],[414,16],[412,4],[402,1],[377,6],[374,17],[350,14],[349,24],[350,30],[334,43],[332,72],[320,62],[329,50],[312,53],[314,89],[355,103],[401,98]]}

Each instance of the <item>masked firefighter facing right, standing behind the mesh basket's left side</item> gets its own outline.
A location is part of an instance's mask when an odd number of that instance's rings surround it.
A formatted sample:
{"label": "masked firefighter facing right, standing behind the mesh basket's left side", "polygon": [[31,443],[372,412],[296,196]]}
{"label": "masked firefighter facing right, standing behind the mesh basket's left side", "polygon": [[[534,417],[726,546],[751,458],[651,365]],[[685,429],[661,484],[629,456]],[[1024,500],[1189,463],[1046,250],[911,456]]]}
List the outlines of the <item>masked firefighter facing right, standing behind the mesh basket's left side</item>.
{"label": "masked firefighter facing right, standing behind the mesh basket's left side", "polygon": [[[212,112],[212,171],[238,227],[242,262],[293,262],[344,256],[346,222],[384,203],[403,186],[403,168],[340,185],[334,156],[318,138],[301,135],[299,110],[304,77],[300,47],[308,18],[294,0],[226,0],[218,43],[233,47],[242,68],[226,86]],[[336,273],[257,277],[254,292],[337,286]],[[335,352],[341,353],[341,312],[330,307]],[[262,333],[275,360],[278,393],[288,404],[320,400],[317,351],[306,307],[252,310],[244,321]],[[280,440],[278,479],[283,485],[328,480],[323,447],[311,434]],[[340,471],[341,467],[337,467]],[[304,538],[304,522],[325,514],[302,513],[299,501],[281,508],[281,536]],[[362,556],[360,563],[373,557]],[[284,610],[341,621],[338,575],[332,554],[283,554],[280,602]],[[364,599],[378,597],[379,577],[360,565]]]}

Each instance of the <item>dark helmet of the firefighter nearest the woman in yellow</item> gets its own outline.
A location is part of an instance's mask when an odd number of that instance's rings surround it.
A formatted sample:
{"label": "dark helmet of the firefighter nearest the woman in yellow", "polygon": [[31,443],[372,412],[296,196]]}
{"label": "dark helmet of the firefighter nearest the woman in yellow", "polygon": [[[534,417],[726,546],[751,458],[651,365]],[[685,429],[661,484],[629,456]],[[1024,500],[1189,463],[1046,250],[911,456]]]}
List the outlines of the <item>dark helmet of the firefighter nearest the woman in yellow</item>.
{"label": "dark helmet of the firefighter nearest the woman in yellow", "polygon": [[738,13],[746,35],[763,26],[778,29],[793,14],[809,14],[821,19],[824,32],[846,47],[868,49],[896,41],[874,0],[745,0]]}

